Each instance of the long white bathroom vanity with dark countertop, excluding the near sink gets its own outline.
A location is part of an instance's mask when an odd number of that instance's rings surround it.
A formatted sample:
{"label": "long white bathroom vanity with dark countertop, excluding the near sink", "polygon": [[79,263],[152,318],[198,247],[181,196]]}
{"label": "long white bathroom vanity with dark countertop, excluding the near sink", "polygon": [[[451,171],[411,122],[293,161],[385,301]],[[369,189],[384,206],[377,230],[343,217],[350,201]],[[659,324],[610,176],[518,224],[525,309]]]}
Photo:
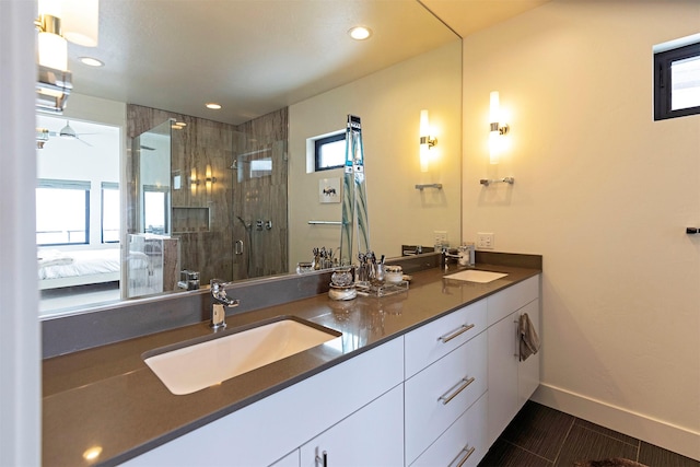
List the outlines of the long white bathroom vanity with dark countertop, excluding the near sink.
{"label": "long white bathroom vanity with dark countertop, excluding the near sink", "polygon": [[508,276],[434,268],[393,296],[230,316],[229,329],[284,315],[342,335],[188,395],[142,354],[207,324],[48,359],[44,465],[475,466],[538,385],[539,354],[518,361],[517,318],[538,329],[541,272],[478,266]]}

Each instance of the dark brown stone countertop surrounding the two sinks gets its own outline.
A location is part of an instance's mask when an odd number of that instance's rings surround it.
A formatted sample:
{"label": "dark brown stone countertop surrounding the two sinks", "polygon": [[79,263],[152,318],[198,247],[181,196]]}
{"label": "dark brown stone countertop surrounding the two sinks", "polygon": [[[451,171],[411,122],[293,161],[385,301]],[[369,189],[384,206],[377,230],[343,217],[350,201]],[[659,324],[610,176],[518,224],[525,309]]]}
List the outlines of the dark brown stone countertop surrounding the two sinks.
{"label": "dark brown stone countertop surrounding the two sinks", "polygon": [[[413,273],[409,290],[396,295],[335,302],[320,294],[229,316],[228,331],[280,315],[298,316],[341,331],[342,349],[318,346],[189,395],[171,394],[141,354],[209,335],[208,323],[47,359],[43,364],[43,465],[122,463],[541,272],[487,264],[478,269],[509,276],[489,283],[463,282],[444,280],[443,271],[435,268]],[[448,272],[456,270],[452,267]],[[94,446],[101,446],[102,454],[85,460],[83,453]]]}

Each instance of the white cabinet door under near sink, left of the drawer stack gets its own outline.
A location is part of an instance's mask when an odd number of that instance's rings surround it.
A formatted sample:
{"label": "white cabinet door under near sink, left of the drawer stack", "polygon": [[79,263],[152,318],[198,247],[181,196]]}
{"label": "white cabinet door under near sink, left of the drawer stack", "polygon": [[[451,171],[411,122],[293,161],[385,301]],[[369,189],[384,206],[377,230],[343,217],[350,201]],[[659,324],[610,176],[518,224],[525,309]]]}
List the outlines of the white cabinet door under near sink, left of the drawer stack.
{"label": "white cabinet door under near sink, left of the drawer stack", "polygon": [[[310,415],[313,417],[313,413]],[[404,387],[399,385],[301,447],[302,467],[404,465]]]}

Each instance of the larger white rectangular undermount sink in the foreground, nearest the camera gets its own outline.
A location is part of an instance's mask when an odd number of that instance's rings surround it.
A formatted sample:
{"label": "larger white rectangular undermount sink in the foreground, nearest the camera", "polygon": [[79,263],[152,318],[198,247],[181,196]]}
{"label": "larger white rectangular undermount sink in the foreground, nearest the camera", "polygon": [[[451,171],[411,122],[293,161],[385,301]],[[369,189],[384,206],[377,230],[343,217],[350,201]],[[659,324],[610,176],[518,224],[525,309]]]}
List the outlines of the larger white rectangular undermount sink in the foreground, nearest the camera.
{"label": "larger white rectangular undermount sink in the foreground, nearest the camera", "polygon": [[145,352],[145,364],[171,393],[191,394],[294,353],[336,339],[341,332],[302,319],[282,316],[273,322],[213,338]]}

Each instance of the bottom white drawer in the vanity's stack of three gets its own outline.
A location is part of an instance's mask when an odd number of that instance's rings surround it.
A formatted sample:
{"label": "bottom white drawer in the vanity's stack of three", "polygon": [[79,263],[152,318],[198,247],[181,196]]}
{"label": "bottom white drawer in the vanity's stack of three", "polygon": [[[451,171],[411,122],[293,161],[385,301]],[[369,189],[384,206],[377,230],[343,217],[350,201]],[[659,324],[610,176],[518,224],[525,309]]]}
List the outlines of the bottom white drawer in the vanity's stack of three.
{"label": "bottom white drawer in the vanity's stack of three", "polygon": [[411,467],[457,466],[474,467],[486,455],[486,418],[489,393],[445,431]]}

